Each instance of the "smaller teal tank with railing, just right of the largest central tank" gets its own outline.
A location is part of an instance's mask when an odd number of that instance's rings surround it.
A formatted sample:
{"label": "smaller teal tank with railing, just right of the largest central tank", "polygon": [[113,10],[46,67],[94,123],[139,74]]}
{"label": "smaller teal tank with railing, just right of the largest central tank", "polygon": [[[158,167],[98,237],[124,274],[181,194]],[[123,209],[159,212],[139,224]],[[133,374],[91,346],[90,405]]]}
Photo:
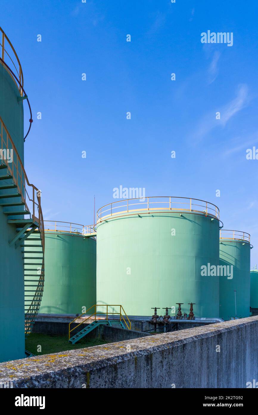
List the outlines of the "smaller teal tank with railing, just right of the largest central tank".
{"label": "smaller teal tank with railing, just right of the largest central tank", "polygon": [[220,230],[219,265],[224,270],[219,277],[219,317],[224,320],[250,316],[250,249],[246,232]]}

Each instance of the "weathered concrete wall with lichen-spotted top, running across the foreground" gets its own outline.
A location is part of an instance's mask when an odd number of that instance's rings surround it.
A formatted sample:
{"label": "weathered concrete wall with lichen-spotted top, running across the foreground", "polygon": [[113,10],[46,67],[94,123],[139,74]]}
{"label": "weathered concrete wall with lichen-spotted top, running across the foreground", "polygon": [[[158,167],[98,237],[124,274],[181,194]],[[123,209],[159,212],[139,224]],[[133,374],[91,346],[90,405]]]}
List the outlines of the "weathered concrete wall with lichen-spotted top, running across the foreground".
{"label": "weathered concrete wall with lichen-spotted top, running across the foreground", "polygon": [[[258,317],[0,364],[21,388],[246,388],[258,381]],[[219,351],[220,350],[220,351]]]}

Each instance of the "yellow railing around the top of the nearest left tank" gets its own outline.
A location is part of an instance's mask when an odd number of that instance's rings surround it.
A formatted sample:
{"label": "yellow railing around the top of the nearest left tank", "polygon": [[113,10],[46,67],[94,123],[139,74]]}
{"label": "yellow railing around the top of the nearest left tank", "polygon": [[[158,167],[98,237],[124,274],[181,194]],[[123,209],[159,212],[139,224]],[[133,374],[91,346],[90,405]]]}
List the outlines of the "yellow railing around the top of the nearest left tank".
{"label": "yellow railing around the top of the nearest left tank", "polygon": [[[22,87],[23,87],[23,73],[22,73],[22,66],[21,63],[19,61],[19,58],[17,56],[17,53],[14,49],[14,47],[12,46],[12,43],[10,42],[10,40],[8,39],[8,37],[6,36],[5,32],[3,31],[3,29],[0,27],[0,47],[1,47],[1,57],[2,60],[12,69],[13,72],[17,73],[17,78],[19,79],[19,82],[21,85],[19,85],[16,81],[16,79],[14,78],[14,76],[12,75],[12,73],[8,70],[8,68],[3,65],[2,61],[1,64],[5,67],[6,71],[10,74],[10,76],[12,77],[14,83],[17,85],[17,88],[19,89],[19,93],[21,96],[23,96],[23,91],[22,91]],[[22,87],[21,87],[22,86]]]}

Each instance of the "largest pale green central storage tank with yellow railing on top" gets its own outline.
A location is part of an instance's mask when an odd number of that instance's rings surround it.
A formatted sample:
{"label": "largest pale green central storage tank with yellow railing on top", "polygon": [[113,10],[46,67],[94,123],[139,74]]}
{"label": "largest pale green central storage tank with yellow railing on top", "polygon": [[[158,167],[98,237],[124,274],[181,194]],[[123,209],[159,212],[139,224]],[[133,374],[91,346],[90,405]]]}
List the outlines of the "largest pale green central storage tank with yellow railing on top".
{"label": "largest pale green central storage tank with yellow railing on top", "polygon": [[176,303],[189,314],[193,302],[196,317],[219,316],[219,280],[202,275],[202,267],[219,265],[215,205],[173,197],[122,200],[98,210],[96,229],[98,304],[150,316],[152,308],[164,314],[162,308]]}

